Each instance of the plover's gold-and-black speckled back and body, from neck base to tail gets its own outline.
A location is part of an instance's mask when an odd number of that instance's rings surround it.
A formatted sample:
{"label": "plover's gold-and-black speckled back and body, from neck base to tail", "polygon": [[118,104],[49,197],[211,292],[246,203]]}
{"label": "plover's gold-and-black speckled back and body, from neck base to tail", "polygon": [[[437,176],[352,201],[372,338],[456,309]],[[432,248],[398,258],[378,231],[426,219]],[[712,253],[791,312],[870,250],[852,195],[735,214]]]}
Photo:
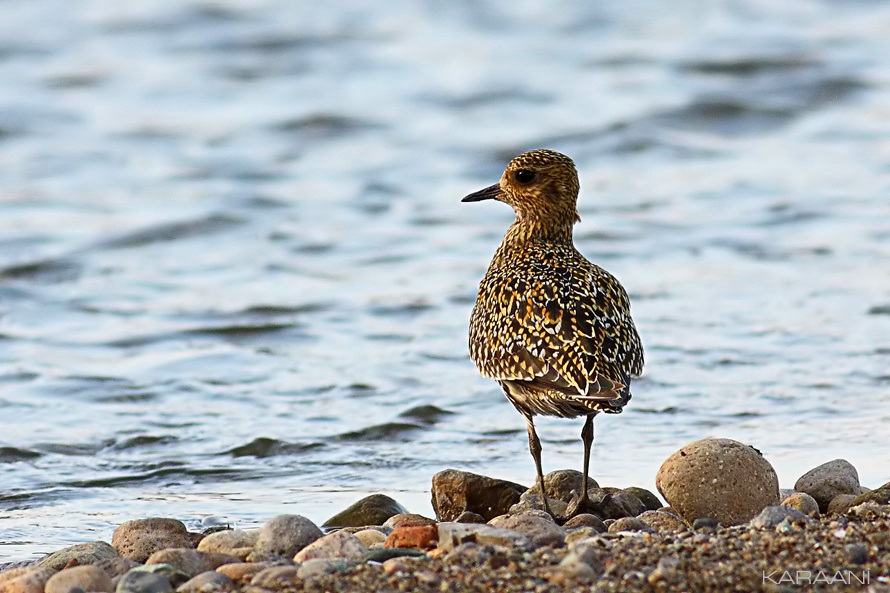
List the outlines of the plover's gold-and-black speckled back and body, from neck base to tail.
{"label": "plover's gold-and-black speckled back and body, from neck base to tail", "polygon": [[479,286],[470,356],[520,410],[620,412],[643,351],[618,280],[568,240],[511,227]]}

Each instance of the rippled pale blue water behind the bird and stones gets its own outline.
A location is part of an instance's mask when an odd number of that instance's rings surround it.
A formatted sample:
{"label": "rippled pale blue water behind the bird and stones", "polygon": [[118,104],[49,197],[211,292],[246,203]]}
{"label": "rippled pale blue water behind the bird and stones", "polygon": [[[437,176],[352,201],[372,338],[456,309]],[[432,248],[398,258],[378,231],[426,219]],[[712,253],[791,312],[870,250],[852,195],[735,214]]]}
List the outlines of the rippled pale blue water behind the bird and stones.
{"label": "rippled pale blue water behind the bird and stones", "polygon": [[[174,516],[430,514],[531,483],[466,355],[511,220],[460,198],[573,156],[576,241],[647,367],[593,473],[706,436],[790,486],[890,478],[890,7],[2,2],[0,557]],[[545,468],[580,421],[542,419]]]}

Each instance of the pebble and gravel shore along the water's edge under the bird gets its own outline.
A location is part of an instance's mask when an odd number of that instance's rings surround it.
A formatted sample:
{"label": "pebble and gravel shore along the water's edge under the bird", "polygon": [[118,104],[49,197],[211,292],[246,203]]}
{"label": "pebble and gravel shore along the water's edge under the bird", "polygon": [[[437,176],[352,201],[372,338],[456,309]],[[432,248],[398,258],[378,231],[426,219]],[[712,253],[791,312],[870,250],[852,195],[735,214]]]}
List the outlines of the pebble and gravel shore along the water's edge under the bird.
{"label": "pebble and gravel shore along the water's edge under the bird", "polygon": [[[580,480],[546,476],[557,515]],[[539,491],[454,469],[432,479],[435,519],[383,494],[321,526],[278,515],[193,533],[173,518],[136,519],[110,544],[6,566],[0,593],[890,592],[890,483],[861,486],[845,460],[779,491],[756,449],[705,439],[668,458],[656,484],[668,505],[590,480],[587,512],[565,521],[538,510]]]}

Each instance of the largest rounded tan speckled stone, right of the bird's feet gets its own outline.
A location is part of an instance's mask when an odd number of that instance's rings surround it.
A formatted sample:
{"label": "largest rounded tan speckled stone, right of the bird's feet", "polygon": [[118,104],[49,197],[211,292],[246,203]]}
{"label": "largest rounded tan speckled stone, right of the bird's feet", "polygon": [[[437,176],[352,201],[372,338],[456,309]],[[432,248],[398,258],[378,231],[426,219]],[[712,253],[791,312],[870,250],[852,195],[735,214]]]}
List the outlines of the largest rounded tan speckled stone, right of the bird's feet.
{"label": "largest rounded tan speckled stone, right of the bird's feet", "polygon": [[779,503],[779,481],[753,447],[731,439],[702,439],[668,457],[656,486],[686,523],[700,517],[738,525]]}

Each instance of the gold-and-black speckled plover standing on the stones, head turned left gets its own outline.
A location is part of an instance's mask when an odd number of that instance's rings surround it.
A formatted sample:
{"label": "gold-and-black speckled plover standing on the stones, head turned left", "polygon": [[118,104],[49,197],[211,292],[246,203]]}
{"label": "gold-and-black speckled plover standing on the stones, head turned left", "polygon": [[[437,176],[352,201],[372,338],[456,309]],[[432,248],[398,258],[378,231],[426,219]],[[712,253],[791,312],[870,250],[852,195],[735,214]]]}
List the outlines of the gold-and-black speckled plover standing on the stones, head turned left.
{"label": "gold-and-black speckled plover standing on the stones, head turned left", "polygon": [[479,284],[470,357],[525,416],[548,513],[534,417],[585,417],[584,477],[568,516],[587,507],[593,417],[621,412],[630,400],[630,380],[643,370],[627,292],[572,241],[572,227],[581,220],[578,189],[572,159],[533,150],[513,159],[498,183],[462,200],[499,200],[516,212]]}

